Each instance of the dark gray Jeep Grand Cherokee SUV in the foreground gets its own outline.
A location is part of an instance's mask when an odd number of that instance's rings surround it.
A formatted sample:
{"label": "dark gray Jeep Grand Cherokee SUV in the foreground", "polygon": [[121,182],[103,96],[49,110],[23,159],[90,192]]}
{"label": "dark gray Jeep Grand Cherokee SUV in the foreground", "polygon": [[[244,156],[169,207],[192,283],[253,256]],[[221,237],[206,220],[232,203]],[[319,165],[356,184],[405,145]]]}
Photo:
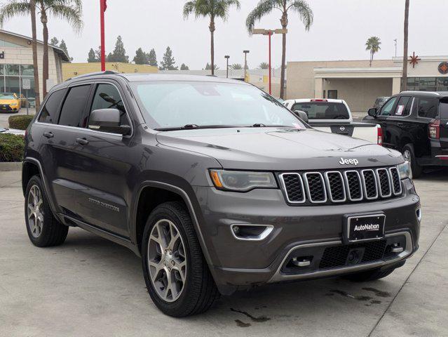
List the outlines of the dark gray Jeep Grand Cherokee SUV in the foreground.
{"label": "dark gray Jeep Grand Cherokee SUV in the foreground", "polygon": [[260,284],[379,279],[418,248],[399,152],[316,131],[241,81],[77,77],[52,89],[25,142],[32,243],[78,226],[128,247],[168,315]]}

